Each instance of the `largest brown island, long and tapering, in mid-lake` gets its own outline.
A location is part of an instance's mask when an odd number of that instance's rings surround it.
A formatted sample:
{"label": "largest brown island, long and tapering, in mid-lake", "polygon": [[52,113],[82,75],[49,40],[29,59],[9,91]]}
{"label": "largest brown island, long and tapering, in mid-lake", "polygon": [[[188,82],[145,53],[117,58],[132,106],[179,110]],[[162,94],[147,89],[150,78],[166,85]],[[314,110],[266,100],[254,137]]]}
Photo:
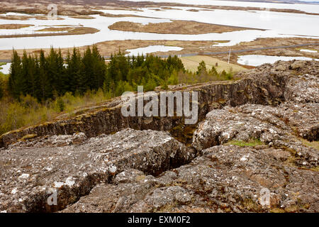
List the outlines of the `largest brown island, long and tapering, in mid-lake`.
{"label": "largest brown island, long and tapering, in mid-lake", "polygon": [[222,26],[211,23],[200,23],[196,21],[172,21],[168,23],[133,23],[129,21],[118,21],[108,28],[119,31],[133,31],[142,33],[160,34],[187,34],[198,35],[206,33],[225,33],[231,31],[242,31],[253,28],[240,28],[234,26]]}

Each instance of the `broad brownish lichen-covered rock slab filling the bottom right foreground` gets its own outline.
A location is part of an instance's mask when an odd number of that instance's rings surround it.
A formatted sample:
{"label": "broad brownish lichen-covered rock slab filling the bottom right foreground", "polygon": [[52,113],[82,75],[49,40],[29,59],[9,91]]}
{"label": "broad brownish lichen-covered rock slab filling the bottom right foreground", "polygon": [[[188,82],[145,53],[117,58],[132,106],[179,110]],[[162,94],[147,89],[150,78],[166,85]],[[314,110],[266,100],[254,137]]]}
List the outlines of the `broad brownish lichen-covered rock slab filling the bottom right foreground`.
{"label": "broad brownish lichen-covered rock slab filling the bottom right foreground", "polygon": [[155,178],[99,184],[63,212],[318,212],[318,172],[287,165],[290,158],[282,149],[219,145]]}

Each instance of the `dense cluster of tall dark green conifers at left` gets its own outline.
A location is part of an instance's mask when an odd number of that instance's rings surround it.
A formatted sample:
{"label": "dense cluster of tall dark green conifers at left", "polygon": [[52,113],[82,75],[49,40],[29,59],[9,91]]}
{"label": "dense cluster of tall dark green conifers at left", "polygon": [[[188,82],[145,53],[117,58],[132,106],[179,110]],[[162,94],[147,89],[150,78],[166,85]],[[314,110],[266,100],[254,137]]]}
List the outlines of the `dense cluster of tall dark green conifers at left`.
{"label": "dense cluster of tall dark green conifers at left", "polygon": [[16,99],[29,94],[45,101],[66,92],[84,94],[88,89],[97,90],[103,86],[105,74],[104,59],[95,45],[82,55],[74,48],[66,60],[60,49],[51,48],[47,56],[43,50],[39,55],[24,51],[22,57],[13,50],[8,89]]}

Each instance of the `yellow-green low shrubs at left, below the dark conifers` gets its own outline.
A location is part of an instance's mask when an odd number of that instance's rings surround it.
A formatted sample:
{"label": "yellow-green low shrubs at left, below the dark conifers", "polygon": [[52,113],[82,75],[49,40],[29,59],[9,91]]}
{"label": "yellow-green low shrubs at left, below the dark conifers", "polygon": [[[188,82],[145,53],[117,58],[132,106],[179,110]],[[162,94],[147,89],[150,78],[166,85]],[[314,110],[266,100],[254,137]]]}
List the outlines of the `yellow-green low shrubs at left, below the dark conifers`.
{"label": "yellow-green low shrubs at left, below the dark conifers", "polygon": [[83,95],[67,92],[55,100],[40,103],[30,95],[21,96],[19,101],[4,96],[0,99],[0,135],[25,126],[33,126],[55,119],[63,111],[72,115],[75,109],[94,106],[108,97],[100,89]]}

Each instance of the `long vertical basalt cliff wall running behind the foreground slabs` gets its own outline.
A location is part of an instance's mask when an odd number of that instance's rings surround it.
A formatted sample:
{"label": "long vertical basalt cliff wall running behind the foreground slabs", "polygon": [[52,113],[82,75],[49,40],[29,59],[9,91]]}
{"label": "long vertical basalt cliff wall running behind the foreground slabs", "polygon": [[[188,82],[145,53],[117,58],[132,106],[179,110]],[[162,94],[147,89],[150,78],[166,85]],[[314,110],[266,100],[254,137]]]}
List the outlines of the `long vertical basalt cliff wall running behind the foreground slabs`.
{"label": "long vertical basalt cliff wall running behind the foreground slabs", "polygon": [[[265,64],[254,70],[237,74],[237,80],[232,82],[211,82],[192,86],[178,87],[174,90],[198,92],[199,111],[198,118],[203,120],[208,111],[222,108],[225,105],[239,106],[242,104],[278,105],[293,96],[313,95],[313,89],[318,89],[319,62],[316,61],[291,61],[276,62],[274,65]],[[296,75],[301,75],[304,82]],[[306,76],[304,76],[306,75]],[[294,80],[298,80],[298,84]],[[315,79],[315,80],[313,80]],[[308,84],[313,85],[311,89]],[[287,84],[289,86],[287,86]],[[307,87],[307,88],[306,88]],[[303,92],[306,89],[307,94]],[[318,96],[317,96],[318,99]],[[47,122],[38,126],[22,128],[0,136],[0,148],[7,148],[11,143],[28,138],[45,135],[72,135],[85,133],[88,138],[121,131],[124,128],[137,130],[152,129],[157,131],[171,131],[172,128],[184,124],[183,118],[167,117],[123,117],[121,107],[123,101],[114,99],[99,108],[89,111],[79,111],[77,116],[66,120]],[[180,127],[179,127],[180,128]],[[179,133],[187,133],[183,130]],[[183,138],[183,142],[190,142]],[[187,141],[188,140],[188,141]]]}

